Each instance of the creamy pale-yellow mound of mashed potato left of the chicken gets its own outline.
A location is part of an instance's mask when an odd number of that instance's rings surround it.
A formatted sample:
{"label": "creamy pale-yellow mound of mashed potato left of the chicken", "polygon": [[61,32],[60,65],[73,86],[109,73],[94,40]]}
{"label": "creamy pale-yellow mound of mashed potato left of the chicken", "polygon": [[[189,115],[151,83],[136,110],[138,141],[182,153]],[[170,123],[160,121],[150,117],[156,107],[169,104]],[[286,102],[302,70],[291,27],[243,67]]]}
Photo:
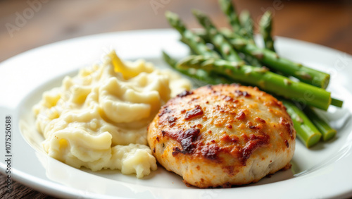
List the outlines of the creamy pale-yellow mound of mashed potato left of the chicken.
{"label": "creamy pale-yellow mound of mashed potato left of the chicken", "polygon": [[172,71],[115,52],[103,64],[66,76],[34,106],[44,150],[73,167],[120,169],[137,178],[156,169],[146,145],[146,126],[160,107],[191,83]]}

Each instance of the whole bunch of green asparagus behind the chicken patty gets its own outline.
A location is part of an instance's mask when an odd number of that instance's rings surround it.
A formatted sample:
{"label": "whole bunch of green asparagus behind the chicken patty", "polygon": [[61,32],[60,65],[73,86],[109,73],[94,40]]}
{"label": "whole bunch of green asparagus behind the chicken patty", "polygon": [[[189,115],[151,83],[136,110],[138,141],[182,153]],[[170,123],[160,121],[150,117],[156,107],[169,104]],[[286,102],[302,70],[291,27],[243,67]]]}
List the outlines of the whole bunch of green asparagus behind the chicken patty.
{"label": "whole bunch of green asparagus behind the chicken patty", "polygon": [[331,93],[325,90],[329,74],[283,58],[275,52],[269,11],[264,13],[259,23],[261,42],[264,43],[264,48],[261,48],[253,37],[253,20],[249,11],[241,11],[238,15],[231,0],[219,0],[219,4],[232,30],[216,28],[205,13],[194,10],[193,14],[203,30],[191,31],[177,14],[165,13],[172,28],[180,32],[180,41],[191,50],[191,56],[180,61],[163,51],[165,62],[191,77],[197,85],[242,83],[284,97],[279,100],[287,106],[298,138],[307,147],[317,144],[320,138],[324,141],[334,138],[336,131],[312,109],[327,111],[329,105],[343,105],[342,100],[332,98]]}

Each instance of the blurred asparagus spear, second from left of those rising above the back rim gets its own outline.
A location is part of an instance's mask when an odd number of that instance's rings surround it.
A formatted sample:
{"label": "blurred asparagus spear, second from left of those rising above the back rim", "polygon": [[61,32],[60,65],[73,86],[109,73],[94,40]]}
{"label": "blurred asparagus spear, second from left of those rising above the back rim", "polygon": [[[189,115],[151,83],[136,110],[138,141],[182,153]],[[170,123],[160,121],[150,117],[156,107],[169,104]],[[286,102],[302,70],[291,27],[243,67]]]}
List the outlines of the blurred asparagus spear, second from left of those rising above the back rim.
{"label": "blurred asparagus spear, second from left of those rising above the back rim", "polygon": [[241,61],[241,58],[234,51],[232,45],[227,42],[224,35],[220,34],[218,29],[215,28],[215,25],[211,22],[210,18],[208,18],[201,11],[194,10],[194,16],[196,16],[197,20],[203,27],[206,29],[206,33],[210,38],[211,43],[220,51],[221,55],[229,61]]}

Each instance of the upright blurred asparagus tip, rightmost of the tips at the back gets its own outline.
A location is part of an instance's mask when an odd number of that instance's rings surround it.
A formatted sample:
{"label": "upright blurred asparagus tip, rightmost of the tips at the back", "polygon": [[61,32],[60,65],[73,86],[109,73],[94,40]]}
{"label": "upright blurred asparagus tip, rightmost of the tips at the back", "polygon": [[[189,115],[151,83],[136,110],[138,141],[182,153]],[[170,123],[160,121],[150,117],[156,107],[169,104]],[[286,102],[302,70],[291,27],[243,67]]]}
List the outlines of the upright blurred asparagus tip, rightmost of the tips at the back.
{"label": "upright blurred asparagus tip, rightmost of the tips at the back", "polygon": [[266,11],[262,18],[260,18],[259,23],[260,34],[264,40],[264,46],[266,49],[270,49],[275,52],[274,48],[274,40],[272,39],[272,13],[270,11]]}

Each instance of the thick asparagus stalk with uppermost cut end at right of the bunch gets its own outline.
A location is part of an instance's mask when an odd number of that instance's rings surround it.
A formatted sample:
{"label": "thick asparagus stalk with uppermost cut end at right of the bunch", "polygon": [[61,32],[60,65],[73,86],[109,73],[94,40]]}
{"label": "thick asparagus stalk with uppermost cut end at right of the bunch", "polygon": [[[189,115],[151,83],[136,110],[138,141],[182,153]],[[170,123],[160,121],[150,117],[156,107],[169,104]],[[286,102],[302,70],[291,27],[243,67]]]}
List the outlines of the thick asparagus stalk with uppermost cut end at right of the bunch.
{"label": "thick asparagus stalk with uppermost cut end at right of the bunch", "polygon": [[319,88],[327,88],[327,85],[329,84],[330,76],[327,73],[282,58],[269,49],[260,49],[259,47],[256,47],[256,45],[238,37],[236,39],[230,39],[229,41],[239,52],[255,56],[256,59],[262,62],[265,66],[272,68],[272,70],[279,71],[285,76],[294,76],[304,83]]}

